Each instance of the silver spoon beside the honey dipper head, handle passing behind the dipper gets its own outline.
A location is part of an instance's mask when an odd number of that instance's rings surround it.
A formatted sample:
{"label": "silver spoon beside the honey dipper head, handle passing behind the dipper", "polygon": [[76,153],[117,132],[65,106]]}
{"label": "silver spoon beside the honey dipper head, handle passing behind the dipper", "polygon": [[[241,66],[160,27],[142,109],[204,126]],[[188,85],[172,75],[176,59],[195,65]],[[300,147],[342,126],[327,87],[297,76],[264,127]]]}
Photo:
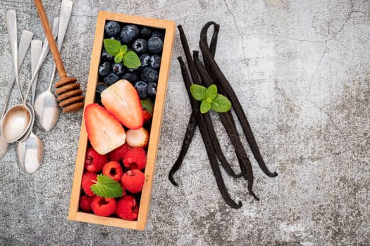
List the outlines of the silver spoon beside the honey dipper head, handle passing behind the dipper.
{"label": "silver spoon beside the honey dipper head, handle passing behind the dipper", "polygon": [[[61,2],[61,15],[58,28],[58,39],[56,40],[58,51],[61,50],[63,39],[67,32],[70,14],[72,13],[72,7],[73,1],[63,0]],[[56,65],[54,63],[54,68],[51,74],[49,86],[46,91],[40,93],[37,96],[34,106],[36,120],[39,123],[39,126],[42,127],[42,129],[44,129],[45,131],[50,131],[51,129],[53,129],[56,122],[58,121],[58,117],[60,114],[58,101],[56,101],[54,93],[51,92],[51,86],[54,81],[55,72]]]}

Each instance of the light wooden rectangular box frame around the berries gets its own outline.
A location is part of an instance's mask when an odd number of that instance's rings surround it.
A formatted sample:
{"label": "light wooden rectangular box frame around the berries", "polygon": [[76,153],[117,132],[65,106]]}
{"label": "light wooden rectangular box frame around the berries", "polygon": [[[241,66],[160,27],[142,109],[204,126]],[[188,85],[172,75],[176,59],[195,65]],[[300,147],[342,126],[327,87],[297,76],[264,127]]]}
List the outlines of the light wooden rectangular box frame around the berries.
{"label": "light wooden rectangular box frame around the berries", "polygon": [[92,60],[87,84],[85,107],[90,103],[94,103],[95,100],[95,89],[98,83],[98,67],[101,49],[103,48],[104,25],[107,20],[115,20],[117,22],[153,27],[165,31],[164,48],[162,51],[161,67],[159,69],[159,79],[157,83],[157,93],[154,101],[154,115],[152,118],[152,127],[149,131],[150,137],[147,148],[147,165],[144,169],[145,181],[140,197],[140,209],[137,221],[126,221],[114,217],[97,216],[95,214],[89,214],[80,211],[79,199],[82,190],[81,179],[84,171],[85,153],[88,144],[85,120],[82,117],[80,142],[78,146],[78,155],[75,162],[75,175],[73,179],[68,219],[94,224],[103,224],[107,226],[118,226],[121,228],[144,230],[145,224],[147,223],[147,215],[152,191],[152,181],[154,178],[154,167],[156,163],[156,153],[159,143],[159,134],[161,132],[161,122],[164,113],[164,101],[166,96],[173,41],[175,38],[175,22],[169,20],[143,18],[140,16],[123,15],[119,13],[99,12],[95,30],[94,46],[92,49]]}

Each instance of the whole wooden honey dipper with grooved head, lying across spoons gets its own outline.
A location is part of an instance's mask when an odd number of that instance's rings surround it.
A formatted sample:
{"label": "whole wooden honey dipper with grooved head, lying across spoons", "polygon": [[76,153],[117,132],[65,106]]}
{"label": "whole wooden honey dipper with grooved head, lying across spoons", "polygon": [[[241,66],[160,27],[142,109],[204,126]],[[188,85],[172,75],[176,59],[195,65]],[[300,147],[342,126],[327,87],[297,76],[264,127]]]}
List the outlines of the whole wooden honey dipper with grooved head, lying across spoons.
{"label": "whole wooden honey dipper with grooved head, lying across spoons", "polygon": [[54,36],[49,26],[49,20],[47,20],[47,15],[45,13],[44,6],[42,5],[42,1],[34,0],[34,2],[37,13],[39,13],[42,27],[44,27],[45,36],[47,37],[50,51],[53,55],[56,65],[56,70],[58,71],[60,78],[60,80],[54,85],[56,87],[56,100],[59,102],[59,106],[63,108],[63,112],[77,112],[83,108],[85,104],[85,96],[82,96],[80,84],[76,83],[77,79],[74,77],[67,77],[66,70],[64,69],[64,65],[61,60],[61,55],[59,54]]}

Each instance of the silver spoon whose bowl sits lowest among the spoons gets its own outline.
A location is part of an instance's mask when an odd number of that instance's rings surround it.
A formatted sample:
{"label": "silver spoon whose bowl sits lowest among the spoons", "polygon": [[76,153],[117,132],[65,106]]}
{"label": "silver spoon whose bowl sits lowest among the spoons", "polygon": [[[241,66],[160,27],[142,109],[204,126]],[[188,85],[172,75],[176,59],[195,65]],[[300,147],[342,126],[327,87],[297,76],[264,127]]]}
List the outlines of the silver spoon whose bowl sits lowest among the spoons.
{"label": "silver spoon whose bowl sits lowest among the spoons", "polygon": [[[32,75],[38,74],[36,70],[36,65],[41,55],[42,50],[42,41],[35,39],[31,43],[31,70]],[[35,77],[37,81],[37,75]],[[35,85],[36,83],[34,83]],[[34,102],[36,94],[35,86],[32,86],[32,98],[31,98],[31,107]],[[32,127],[30,127],[32,129]],[[28,136],[25,141],[18,142],[17,145],[17,157],[20,167],[23,168],[27,173],[32,174],[35,172],[42,160],[44,159],[44,144],[41,139],[31,131],[30,136]]]}

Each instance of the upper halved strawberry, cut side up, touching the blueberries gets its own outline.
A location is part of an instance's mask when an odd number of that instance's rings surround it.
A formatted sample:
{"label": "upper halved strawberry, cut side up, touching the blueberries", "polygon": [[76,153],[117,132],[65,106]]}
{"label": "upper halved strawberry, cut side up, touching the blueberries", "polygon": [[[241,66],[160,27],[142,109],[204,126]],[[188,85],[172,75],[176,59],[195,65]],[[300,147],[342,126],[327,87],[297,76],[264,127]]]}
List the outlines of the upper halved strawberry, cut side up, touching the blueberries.
{"label": "upper halved strawberry, cut side up, touching the blueberries", "polygon": [[118,80],[101,92],[101,103],[125,127],[129,129],[142,127],[144,119],[140,98],[135,87],[127,80]]}

